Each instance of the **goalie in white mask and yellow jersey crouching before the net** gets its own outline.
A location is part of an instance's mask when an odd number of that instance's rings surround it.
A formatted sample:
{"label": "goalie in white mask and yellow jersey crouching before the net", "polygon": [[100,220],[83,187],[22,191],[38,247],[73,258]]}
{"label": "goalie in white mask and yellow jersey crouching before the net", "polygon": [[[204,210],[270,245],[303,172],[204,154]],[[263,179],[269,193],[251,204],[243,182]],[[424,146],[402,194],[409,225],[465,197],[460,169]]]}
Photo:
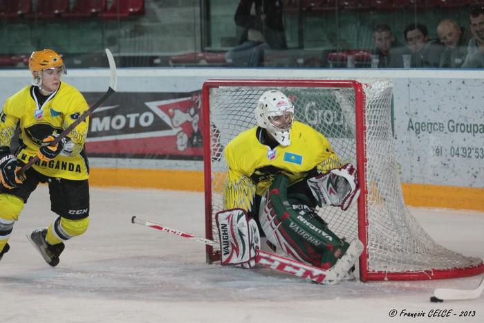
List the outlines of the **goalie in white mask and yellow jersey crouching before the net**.
{"label": "goalie in white mask and yellow jersey crouching before the net", "polygon": [[[248,235],[257,236],[258,228],[272,250],[322,269],[332,268],[351,252],[349,267],[353,266],[362,243],[355,240],[350,245],[337,237],[315,207],[347,210],[360,193],[355,167],[341,165],[321,133],[294,121],[292,102],[281,91],[264,92],[254,112],[257,126],[240,133],[225,148],[229,170],[223,205],[227,211],[217,214],[219,234],[221,225],[230,227],[230,210],[242,209],[248,214],[249,232],[255,232]],[[254,241],[248,240],[247,249],[259,248],[257,237]],[[251,267],[254,261],[223,255],[222,263]]]}

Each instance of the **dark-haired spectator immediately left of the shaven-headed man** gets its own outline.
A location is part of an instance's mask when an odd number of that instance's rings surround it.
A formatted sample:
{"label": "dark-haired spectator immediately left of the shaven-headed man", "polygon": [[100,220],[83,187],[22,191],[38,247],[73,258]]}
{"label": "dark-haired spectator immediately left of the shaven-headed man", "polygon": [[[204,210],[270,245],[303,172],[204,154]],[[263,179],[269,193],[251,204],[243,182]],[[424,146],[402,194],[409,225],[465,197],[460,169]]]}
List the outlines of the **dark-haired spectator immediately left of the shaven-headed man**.
{"label": "dark-haired spectator immediately left of the shaven-headed man", "polygon": [[403,31],[407,40],[407,50],[402,50],[393,62],[393,67],[402,67],[403,55],[411,55],[410,67],[438,67],[440,64],[440,53],[443,50],[442,44],[435,39],[429,39],[427,27],[422,24],[410,24]]}

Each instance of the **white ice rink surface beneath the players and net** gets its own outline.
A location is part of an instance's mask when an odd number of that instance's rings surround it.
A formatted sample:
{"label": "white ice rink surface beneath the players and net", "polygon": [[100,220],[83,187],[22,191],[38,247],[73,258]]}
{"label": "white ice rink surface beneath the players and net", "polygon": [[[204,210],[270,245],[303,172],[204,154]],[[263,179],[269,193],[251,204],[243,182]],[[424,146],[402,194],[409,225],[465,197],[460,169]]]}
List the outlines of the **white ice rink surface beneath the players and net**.
{"label": "white ice rink surface beneath the players and net", "polygon": [[[438,243],[484,258],[484,213],[411,212]],[[263,268],[207,265],[202,244],[132,224],[133,215],[204,236],[202,193],[94,187],[89,230],[51,268],[26,239],[56,217],[39,187],[0,262],[0,322],[484,322],[484,295],[429,302],[434,288],[470,289],[481,277],[319,286]],[[450,316],[429,317],[438,309]],[[474,316],[459,316],[466,311]]]}

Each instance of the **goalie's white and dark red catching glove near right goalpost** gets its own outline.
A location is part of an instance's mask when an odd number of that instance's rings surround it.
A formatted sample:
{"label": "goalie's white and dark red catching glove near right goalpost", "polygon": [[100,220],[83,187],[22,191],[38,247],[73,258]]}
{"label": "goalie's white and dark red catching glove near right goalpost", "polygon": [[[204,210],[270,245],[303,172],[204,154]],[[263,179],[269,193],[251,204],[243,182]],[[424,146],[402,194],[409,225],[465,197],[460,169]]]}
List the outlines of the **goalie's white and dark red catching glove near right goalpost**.
{"label": "goalie's white and dark red catching glove near right goalpost", "polygon": [[307,182],[319,207],[333,205],[345,211],[360,196],[356,169],[349,163],[309,178]]}

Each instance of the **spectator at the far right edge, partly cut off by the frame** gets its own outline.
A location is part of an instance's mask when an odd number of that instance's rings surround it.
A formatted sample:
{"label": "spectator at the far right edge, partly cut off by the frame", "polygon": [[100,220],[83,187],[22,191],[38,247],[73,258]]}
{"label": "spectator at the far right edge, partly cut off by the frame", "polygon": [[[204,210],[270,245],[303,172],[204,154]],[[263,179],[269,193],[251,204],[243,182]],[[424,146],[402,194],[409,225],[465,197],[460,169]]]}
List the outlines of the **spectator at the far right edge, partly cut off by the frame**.
{"label": "spectator at the far right edge, partly cut off by the frame", "polygon": [[472,39],[467,46],[463,68],[484,68],[484,7],[472,8],[469,17]]}

